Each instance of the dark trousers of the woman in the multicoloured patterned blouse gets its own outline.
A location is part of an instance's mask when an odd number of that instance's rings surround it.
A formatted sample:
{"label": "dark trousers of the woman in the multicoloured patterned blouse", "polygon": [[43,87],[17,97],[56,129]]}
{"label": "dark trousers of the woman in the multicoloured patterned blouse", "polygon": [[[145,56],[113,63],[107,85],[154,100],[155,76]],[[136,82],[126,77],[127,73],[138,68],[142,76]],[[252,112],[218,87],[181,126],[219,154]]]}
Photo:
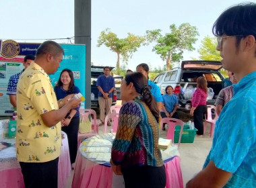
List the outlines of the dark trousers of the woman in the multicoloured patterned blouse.
{"label": "dark trousers of the woman in the multicoloured patterned blouse", "polygon": [[166,185],[165,167],[128,167],[122,169],[125,188],[164,188]]}

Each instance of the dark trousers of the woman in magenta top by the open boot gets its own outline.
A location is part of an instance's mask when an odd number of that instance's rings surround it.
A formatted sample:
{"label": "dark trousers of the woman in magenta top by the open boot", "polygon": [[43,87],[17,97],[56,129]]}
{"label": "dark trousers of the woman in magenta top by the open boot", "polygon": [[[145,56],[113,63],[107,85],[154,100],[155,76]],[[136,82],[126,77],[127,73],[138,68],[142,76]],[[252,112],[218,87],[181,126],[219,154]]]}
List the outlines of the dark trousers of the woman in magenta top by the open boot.
{"label": "dark trousers of the woman in magenta top by the open boot", "polygon": [[194,125],[197,128],[197,134],[203,135],[203,117],[207,111],[207,105],[199,105],[193,113]]}

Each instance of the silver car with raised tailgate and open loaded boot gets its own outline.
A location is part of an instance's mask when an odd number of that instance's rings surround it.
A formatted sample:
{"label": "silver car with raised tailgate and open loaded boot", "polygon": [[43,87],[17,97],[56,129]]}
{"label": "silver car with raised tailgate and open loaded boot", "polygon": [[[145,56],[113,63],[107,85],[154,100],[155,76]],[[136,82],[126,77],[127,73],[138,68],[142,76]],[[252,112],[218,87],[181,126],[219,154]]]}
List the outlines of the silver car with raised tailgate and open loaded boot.
{"label": "silver car with raised tailgate and open loaded boot", "polygon": [[[222,89],[222,80],[224,77],[220,73],[222,63],[220,61],[210,60],[185,60],[181,62],[181,68],[172,68],[170,71],[160,73],[154,83],[160,87],[161,93],[165,93],[167,85],[171,85],[174,89],[174,94],[179,98],[180,107],[188,107],[190,98],[185,97],[186,89],[195,89],[198,77],[205,77],[207,87],[212,88],[214,96],[207,100],[208,105],[214,105],[218,93]],[[187,105],[187,106],[186,106]]]}

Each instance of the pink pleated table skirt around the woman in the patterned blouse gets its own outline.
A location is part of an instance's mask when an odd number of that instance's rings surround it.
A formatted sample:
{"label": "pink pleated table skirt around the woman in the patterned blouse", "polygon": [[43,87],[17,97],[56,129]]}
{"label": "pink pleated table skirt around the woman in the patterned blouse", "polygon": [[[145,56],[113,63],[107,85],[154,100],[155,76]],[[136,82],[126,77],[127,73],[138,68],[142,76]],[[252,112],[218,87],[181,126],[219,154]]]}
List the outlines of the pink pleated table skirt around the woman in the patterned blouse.
{"label": "pink pleated table skirt around the woman in the patterned blouse", "polygon": [[[183,188],[179,156],[174,156],[172,160],[165,162],[164,166],[166,168],[166,188]],[[121,188],[125,186],[123,185],[123,176],[113,175],[111,167],[96,164],[77,152],[72,187]]]}

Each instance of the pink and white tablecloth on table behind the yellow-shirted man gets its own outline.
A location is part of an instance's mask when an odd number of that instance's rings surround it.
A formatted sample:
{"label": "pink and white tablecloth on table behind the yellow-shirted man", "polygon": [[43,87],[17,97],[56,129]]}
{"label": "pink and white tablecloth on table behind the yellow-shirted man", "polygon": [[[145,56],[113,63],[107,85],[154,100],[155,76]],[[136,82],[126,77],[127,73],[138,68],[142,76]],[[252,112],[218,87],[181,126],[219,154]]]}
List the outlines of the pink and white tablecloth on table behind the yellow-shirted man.
{"label": "pink and white tablecloth on table behind the yellow-shirted man", "polygon": [[[70,176],[71,164],[69,158],[69,144],[67,141],[67,134],[63,132],[65,138],[62,140],[61,155],[59,156],[58,165],[58,188],[65,187],[67,178]],[[8,140],[5,139],[5,142]],[[2,158],[2,151],[0,152],[0,187],[1,188],[24,188],[24,181],[22,169],[20,169],[19,162],[15,159],[15,148],[7,148],[3,150],[8,152],[8,156]]]}

